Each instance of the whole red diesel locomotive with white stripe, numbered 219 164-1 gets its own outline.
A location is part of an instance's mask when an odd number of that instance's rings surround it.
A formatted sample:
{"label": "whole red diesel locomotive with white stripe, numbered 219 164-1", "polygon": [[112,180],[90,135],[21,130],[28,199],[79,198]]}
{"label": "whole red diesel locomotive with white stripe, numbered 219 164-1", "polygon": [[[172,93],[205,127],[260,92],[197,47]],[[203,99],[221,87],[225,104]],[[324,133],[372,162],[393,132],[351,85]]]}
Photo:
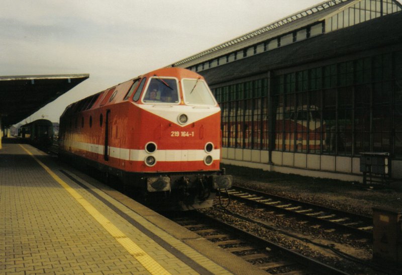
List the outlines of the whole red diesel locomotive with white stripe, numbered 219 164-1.
{"label": "whole red diesel locomotive with white stripe, numbered 219 164-1", "polygon": [[232,185],[220,169],[220,113],[202,76],[158,69],[69,105],[59,154],[118,177],[151,205],[210,207]]}

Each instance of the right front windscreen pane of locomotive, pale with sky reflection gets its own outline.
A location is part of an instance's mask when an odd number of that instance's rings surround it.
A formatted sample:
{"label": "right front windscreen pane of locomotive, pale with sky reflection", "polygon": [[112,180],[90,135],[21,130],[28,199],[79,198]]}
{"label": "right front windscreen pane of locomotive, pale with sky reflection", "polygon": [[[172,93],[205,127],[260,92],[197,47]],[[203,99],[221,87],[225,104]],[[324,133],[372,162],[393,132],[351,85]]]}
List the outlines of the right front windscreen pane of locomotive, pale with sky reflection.
{"label": "right front windscreen pane of locomotive, pale with sky reflection", "polygon": [[216,105],[216,101],[205,81],[200,79],[183,79],[182,83],[186,105]]}

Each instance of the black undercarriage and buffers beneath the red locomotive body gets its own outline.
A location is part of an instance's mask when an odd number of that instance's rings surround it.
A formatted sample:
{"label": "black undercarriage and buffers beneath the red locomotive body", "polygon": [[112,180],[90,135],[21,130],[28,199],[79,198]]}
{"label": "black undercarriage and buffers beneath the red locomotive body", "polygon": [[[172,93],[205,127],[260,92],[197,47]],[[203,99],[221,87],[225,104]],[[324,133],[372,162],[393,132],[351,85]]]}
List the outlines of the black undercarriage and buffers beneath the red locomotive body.
{"label": "black undercarriage and buffers beneath the red locomotive body", "polygon": [[[232,175],[226,175],[224,169],[203,172],[127,172],[67,152],[60,152],[59,155],[77,168],[85,167],[86,172],[94,170],[92,174],[111,187],[161,210],[183,211],[212,207],[218,190],[230,188],[233,181]],[[91,169],[87,169],[89,167]]]}

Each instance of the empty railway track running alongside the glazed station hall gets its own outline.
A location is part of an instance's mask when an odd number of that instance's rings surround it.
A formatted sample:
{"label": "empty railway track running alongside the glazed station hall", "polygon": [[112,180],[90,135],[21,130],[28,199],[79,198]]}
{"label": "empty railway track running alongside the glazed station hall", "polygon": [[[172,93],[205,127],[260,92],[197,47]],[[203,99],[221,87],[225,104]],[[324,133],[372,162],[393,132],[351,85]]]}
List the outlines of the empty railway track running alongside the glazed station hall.
{"label": "empty railway track running alongside the glazed station hall", "polygon": [[350,233],[357,238],[372,240],[373,222],[371,217],[353,214],[341,210],[300,202],[272,194],[233,186],[228,190],[231,198],[259,208],[284,213],[311,223],[324,225],[337,232]]}

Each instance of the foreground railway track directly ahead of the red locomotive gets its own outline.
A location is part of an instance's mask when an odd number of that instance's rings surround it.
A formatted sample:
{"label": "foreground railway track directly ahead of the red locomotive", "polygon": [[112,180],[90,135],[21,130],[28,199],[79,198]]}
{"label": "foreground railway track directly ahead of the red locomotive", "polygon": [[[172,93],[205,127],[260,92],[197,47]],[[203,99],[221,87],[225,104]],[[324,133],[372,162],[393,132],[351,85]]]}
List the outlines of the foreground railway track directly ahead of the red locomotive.
{"label": "foreground railway track directly ahead of the red locomotive", "polygon": [[204,213],[194,211],[169,218],[269,273],[346,274]]}

